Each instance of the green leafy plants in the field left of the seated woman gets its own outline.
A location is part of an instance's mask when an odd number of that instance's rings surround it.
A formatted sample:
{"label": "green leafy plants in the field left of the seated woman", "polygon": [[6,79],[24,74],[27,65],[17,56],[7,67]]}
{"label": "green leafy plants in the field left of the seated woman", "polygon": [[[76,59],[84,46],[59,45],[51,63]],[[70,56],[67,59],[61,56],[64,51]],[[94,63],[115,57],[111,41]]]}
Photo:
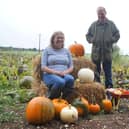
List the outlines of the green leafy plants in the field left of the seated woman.
{"label": "green leafy plants in the field left of the seated woman", "polygon": [[[32,57],[34,52],[0,51],[0,122],[20,120],[17,112],[25,109],[24,105],[35,97],[35,92],[21,89],[19,81],[32,74]],[[18,74],[18,67],[28,67]]]}

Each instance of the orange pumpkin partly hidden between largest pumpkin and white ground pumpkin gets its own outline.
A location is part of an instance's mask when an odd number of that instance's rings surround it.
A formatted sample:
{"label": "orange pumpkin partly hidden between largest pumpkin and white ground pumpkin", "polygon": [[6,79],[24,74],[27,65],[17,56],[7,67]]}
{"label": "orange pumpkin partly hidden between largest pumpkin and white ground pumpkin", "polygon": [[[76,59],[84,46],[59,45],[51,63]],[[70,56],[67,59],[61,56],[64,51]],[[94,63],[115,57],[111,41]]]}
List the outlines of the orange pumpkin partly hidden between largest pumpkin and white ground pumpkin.
{"label": "orange pumpkin partly hidden between largest pumpkin and white ground pumpkin", "polygon": [[52,102],[54,104],[56,117],[59,117],[61,110],[69,104],[67,100],[61,98],[53,99]]}

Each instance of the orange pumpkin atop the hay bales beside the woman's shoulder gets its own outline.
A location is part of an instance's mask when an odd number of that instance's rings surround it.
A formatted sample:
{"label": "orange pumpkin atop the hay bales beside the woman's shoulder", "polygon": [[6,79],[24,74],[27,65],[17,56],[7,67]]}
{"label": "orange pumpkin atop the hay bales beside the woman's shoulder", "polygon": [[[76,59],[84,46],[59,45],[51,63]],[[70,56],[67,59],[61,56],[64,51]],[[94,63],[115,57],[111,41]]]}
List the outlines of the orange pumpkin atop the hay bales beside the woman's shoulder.
{"label": "orange pumpkin atop the hay bales beside the woman's shoulder", "polygon": [[71,54],[75,57],[84,56],[84,54],[85,54],[83,45],[80,43],[77,43],[76,41],[74,44],[69,46],[69,50],[70,50]]}

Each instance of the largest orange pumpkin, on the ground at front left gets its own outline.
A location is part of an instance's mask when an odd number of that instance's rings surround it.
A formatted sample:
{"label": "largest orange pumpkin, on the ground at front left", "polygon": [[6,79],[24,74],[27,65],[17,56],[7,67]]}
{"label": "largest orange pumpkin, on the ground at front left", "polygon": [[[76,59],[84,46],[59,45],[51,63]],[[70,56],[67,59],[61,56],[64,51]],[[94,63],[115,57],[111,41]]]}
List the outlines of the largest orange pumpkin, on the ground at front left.
{"label": "largest orange pumpkin, on the ground at front left", "polygon": [[42,124],[52,120],[54,116],[54,105],[46,97],[35,97],[27,104],[26,120],[28,123]]}

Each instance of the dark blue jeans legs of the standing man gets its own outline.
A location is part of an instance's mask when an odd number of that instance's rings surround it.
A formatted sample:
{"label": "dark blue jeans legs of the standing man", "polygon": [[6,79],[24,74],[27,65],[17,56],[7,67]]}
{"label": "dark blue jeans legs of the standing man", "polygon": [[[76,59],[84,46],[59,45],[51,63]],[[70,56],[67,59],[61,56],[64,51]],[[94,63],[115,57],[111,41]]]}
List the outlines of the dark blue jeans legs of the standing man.
{"label": "dark blue jeans legs of the standing man", "polygon": [[[96,64],[96,74],[95,79],[97,82],[101,82],[100,80],[100,73],[101,73],[101,62],[94,62]],[[112,88],[112,61],[103,61],[102,67],[105,74],[105,86],[106,88]]]}

